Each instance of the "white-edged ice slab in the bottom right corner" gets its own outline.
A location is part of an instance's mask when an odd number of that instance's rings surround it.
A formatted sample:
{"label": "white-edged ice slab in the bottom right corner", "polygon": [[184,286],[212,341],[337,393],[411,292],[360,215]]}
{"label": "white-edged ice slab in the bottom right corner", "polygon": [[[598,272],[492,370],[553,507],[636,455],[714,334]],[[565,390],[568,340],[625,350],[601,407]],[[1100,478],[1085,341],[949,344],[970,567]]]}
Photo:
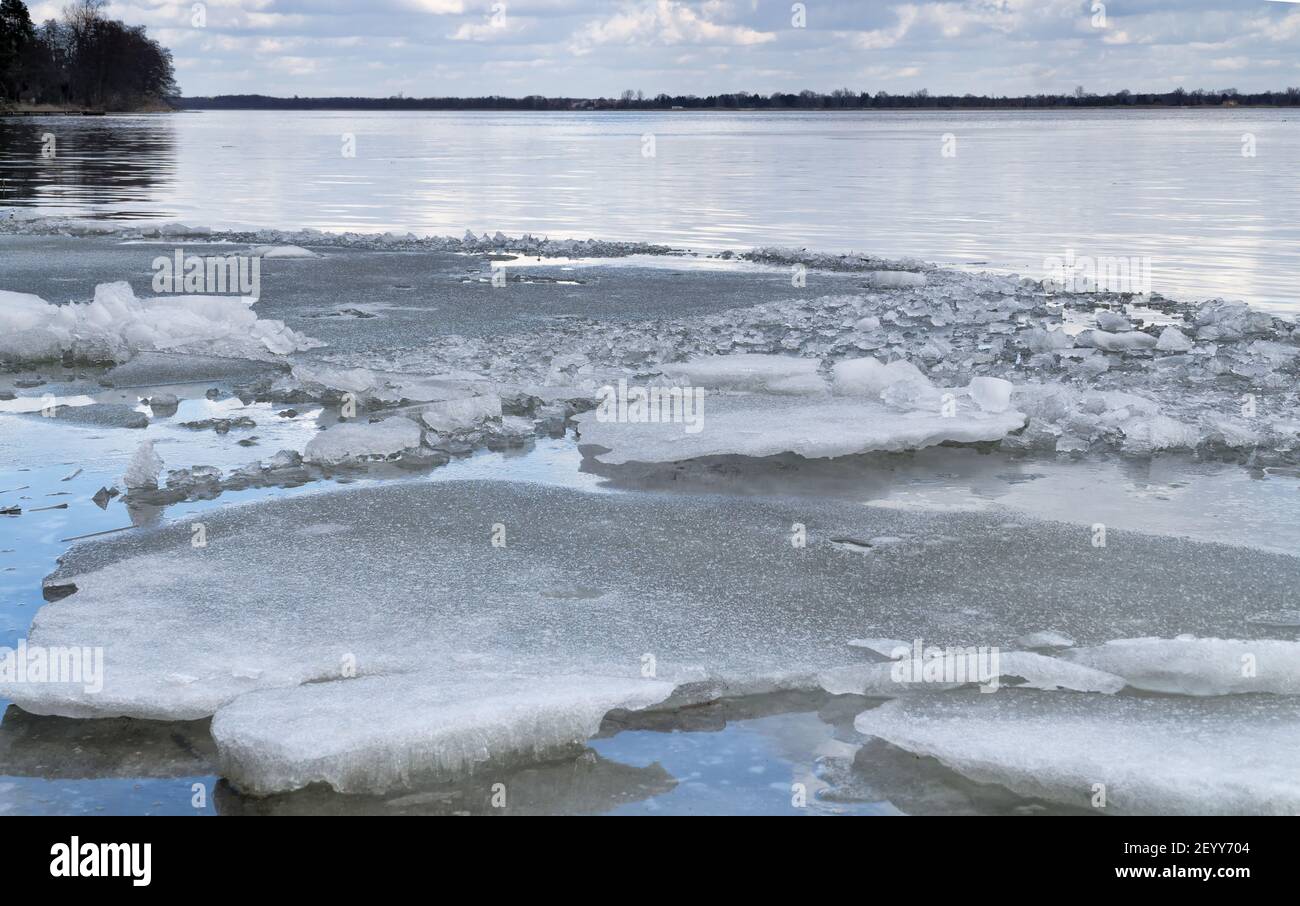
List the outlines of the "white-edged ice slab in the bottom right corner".
{"label": "white-edged ice slab in the bottom right corner", "polygon": [[1300,815],[1300,702],[953,693],[887,702],[859,733],[979,783],[1109,814]]}

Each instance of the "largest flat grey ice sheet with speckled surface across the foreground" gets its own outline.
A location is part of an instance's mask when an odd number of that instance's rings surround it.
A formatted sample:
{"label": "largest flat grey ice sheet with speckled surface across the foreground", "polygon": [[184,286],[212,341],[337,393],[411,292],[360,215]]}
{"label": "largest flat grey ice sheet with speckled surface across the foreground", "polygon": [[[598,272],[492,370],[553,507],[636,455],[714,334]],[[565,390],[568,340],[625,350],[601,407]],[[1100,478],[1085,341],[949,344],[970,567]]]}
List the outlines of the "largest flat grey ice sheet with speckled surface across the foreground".
{"label": "largest flat grey ice sheet with speckled surface across the foreground", "polygon": [[[1300,581],[1295,558],[1214,545],[1117,532],[1122,543],[1098,552],[1076,526],[801,510],[455,481],[228,507],[204,515],[204,547],[188,520],[74,546],[48,581],[77,590],[39,611],[29,641],[103,646],[104,688],[0,694],[38,714],[196,719],[256,690],[347,682],[350,663],[358,677],[410,673],[430,689],[646,672],[816,688],[818,675],[861,663],[845,640],[864,630],[1010,647],[1050,612],[1091,645],[1131,627],[1222,634],[1261,607],[1283,610]],[[796,520],[809,529],[802,549],[790,545]],[[858,556],[831,543],[878,536],[950,541],[923,549],[926,569],[909,545]],[[1026,655],[1002,672],[1100,689],[1087,667]],[[992,697],[1011,692],[1022,690]]]}

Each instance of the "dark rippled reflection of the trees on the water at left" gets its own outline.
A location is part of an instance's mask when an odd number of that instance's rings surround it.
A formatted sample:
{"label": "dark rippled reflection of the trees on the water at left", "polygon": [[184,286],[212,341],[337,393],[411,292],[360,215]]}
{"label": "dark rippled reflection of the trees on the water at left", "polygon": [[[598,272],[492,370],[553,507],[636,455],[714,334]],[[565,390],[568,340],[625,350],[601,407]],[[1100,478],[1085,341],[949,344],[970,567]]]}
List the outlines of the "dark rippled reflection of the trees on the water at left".
{"label": "dark rippled reflection of the trees on the water at left", "polygon": [[162,116],[0,117],[0,207],[165,217],[176,157],[174,126]]}

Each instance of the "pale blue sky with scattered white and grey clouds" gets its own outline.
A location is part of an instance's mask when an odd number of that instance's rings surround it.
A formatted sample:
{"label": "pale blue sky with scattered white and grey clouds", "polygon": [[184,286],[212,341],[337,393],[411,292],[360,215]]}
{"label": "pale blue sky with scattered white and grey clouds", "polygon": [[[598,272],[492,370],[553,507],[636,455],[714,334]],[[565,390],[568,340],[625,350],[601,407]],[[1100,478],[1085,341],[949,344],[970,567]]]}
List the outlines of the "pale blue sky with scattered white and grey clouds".
{"label": "pale blue sky with scattered white and grey clouds", "polygon": [[[32,18],[62,0],[30,3]],[[1105,94],[1300,84],[1283,0],[114,1],[186,96]]]}

